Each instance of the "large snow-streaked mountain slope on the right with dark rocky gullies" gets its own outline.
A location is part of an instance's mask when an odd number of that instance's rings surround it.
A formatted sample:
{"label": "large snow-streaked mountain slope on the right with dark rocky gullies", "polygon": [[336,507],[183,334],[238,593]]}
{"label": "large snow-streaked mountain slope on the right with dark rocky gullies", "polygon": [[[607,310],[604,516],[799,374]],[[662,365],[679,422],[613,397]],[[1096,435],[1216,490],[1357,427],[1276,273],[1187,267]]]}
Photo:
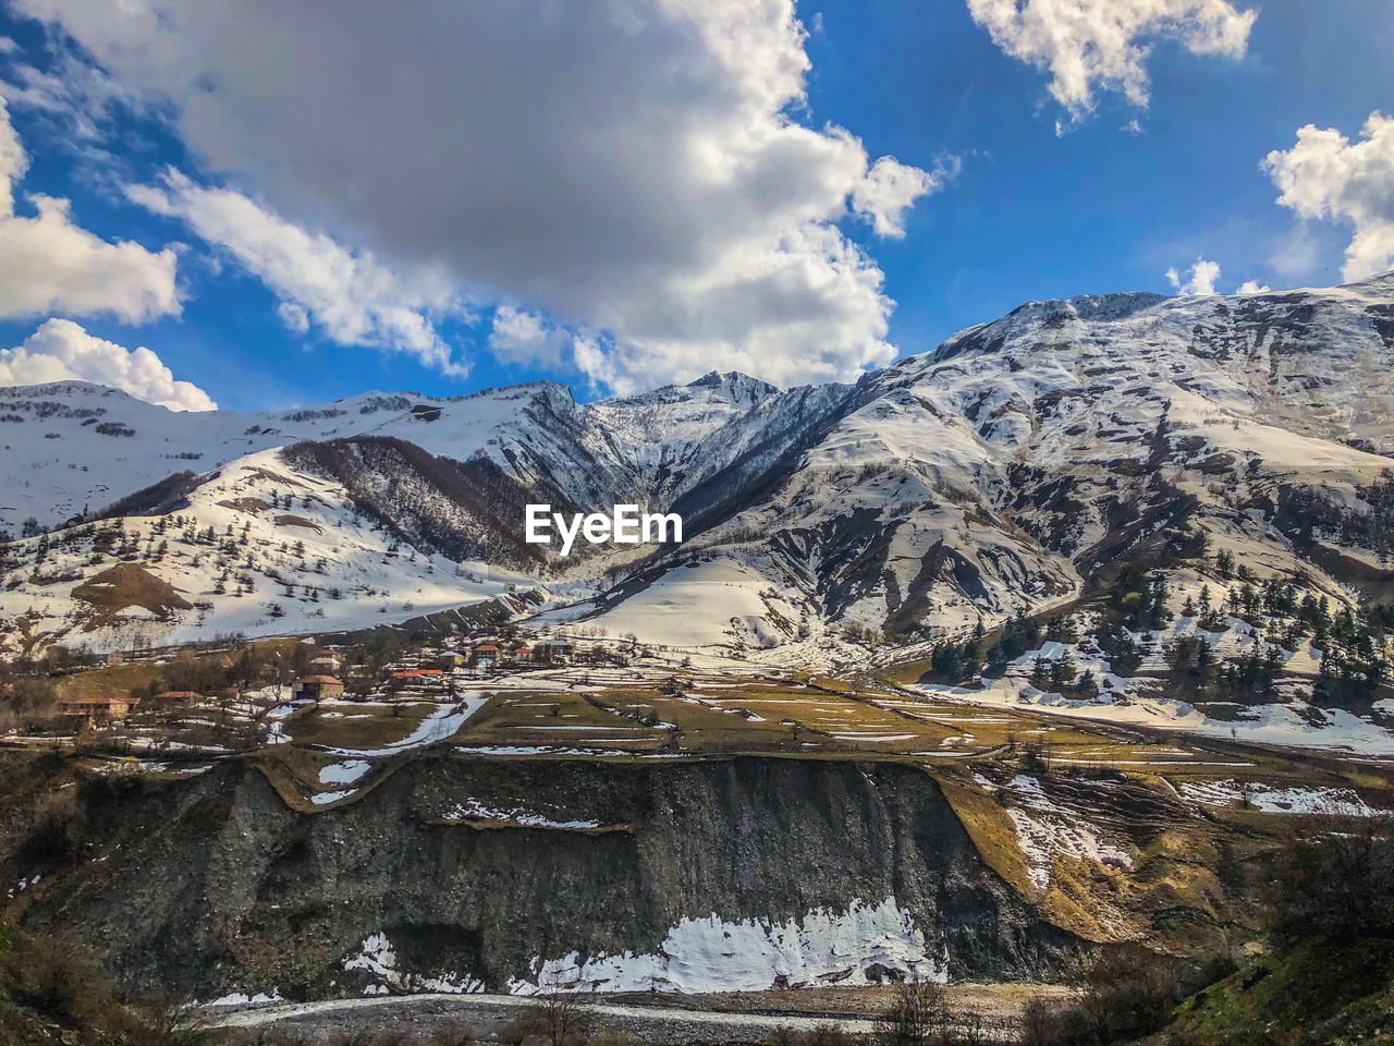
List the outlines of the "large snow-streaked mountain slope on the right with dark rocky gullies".
{"label": "large snow-streaked mountain slope on the right with dark rocky gullies", "polygon": [[[1298,495],[1359,512],[1358,488],[1394,466],[1391,300],[1394,276],[1030,303],[863,379],[795,467],[673,556],[665,590],[697,583],[684,563],[701,549],[832,621],[953,635],[1066,602],[1139,548],[1203,537],[1351,598],[1351,577],[1296,533],[1310,530]],[[602,625],[643,625],[602,607]]]}

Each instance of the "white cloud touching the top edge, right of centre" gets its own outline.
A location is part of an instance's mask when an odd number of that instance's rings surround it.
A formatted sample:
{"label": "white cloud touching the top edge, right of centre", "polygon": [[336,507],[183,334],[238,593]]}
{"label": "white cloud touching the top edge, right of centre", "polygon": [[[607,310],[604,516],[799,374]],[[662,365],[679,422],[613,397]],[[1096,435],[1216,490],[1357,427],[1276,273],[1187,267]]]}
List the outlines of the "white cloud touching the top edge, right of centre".
{"label": "white cloud touching the top edge, right of centre", "polygon": [[1097,89],[1150,100],[1153,40],[1193,54],[1243,57],[1257,11],[1230,0],[967,0],[969,14],[1013,59],[1050,73],[1050,93],[1079,120]]}

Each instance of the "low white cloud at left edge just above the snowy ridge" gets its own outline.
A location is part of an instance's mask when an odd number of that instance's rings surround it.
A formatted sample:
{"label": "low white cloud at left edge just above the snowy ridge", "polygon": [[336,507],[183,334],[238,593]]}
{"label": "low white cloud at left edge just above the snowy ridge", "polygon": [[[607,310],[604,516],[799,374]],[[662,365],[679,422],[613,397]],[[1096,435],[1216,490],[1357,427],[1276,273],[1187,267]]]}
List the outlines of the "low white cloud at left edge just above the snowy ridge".
{"label": "low white cloud at left edge just above the snowy ridge", "polygon": [[0,385],[91,381],[170,410],[216,410],[208,393],[174,381],[160,357],[144,346],[125,349],[89,335],[71,319],[49,319],[14,349],[0,349]]}

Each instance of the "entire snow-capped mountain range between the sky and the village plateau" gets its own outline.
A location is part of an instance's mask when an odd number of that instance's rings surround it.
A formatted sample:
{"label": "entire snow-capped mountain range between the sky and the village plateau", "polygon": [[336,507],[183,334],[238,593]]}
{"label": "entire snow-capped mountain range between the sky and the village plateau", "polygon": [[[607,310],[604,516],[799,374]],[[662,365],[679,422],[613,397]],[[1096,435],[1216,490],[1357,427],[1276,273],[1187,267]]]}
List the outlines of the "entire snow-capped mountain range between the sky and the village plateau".
{"label": "entire snow-capped mountain range between the sky and the village plateau", "polygon": [[[174,637],[289,630],[297,590],[337,589],[323,621],[372,623],[499,582],[553,591],[544,621],[675,646],[928,642],[1218,551],[1348,602],[1394,580],[1351,523],[1394,466],[1391,363],[1394,275],[1034,301],[855,386],[714,372],[591,404],[533,384],[268,414],[0,389],[0,520],[54,529],[10,545],[0,619],[29,642],[100,639],[120,615],[77,593],[118,562],[188,604],[144,611]],[[676,509],[687,540],[562,561],[521,543],[534,501]],[[127,555],[98,537],[105,516],[124,517]],[[155,527],[163,558],[144,551]],[[195,566],[171,534],[209,527],[224,548]],[[275,552],[248,563],[229,534]],[[229,570],[238,591],[215,591]]]}

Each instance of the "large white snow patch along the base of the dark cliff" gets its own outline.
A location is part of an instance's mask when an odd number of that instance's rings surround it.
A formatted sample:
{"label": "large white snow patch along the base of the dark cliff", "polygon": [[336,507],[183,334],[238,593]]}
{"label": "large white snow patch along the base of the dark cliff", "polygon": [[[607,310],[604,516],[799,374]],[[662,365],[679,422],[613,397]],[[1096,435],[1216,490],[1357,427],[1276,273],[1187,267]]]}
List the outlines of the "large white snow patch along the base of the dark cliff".
{"label": "large white snow patch along the base of the dark cliff", "polygon": [[931,957],[910,912],[888,897],[874,907],[853,901],[845,912],[817,909],[785,922],[684,918],[652,953],[581,960],[573,951],[537,960],[534,978],[513,980],[509,990],[701,993],[757,992],[781,982],[864,985],[873,967],[940,982],[948,976],[947,954]]}

